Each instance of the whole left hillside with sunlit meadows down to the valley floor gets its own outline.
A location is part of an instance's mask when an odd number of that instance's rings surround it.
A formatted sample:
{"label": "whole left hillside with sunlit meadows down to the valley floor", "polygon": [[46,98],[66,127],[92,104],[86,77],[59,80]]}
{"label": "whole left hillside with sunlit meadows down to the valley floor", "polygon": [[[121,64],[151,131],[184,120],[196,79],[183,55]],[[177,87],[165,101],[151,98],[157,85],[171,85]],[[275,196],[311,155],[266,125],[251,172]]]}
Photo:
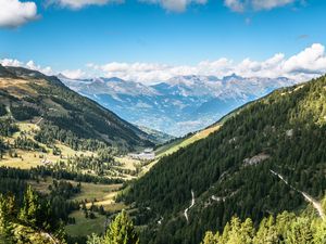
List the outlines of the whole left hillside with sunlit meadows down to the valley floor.
{"label": "whole left hillside with sunlit meadows down to the valley floor", "polygon": [[[126,207],[115,203],[115,195],[146,166],[125,154],[153,146],[150,140],[156,141],[154,133],[57,77],[0,66],[0,243],[61,243],[51,237],[58,231],[70,243],[83,244],[88,234],[103,233],[106,219]],[[45,207],[32,213],[40,218],[37,223],[21,216],[28,185]],[[2,215],[13,201],[18,209]]]}

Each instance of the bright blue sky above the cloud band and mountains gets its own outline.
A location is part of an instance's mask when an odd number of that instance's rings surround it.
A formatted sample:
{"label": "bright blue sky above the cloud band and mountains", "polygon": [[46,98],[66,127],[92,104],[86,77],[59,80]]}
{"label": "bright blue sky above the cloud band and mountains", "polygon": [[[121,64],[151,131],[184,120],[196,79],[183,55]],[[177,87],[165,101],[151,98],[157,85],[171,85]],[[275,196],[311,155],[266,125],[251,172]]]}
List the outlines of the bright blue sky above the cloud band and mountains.
{"label": "bright blue sky above the cloud band and mountains", "polygon": [[[13,0],[0,0],[0,5],[8,1]],[[254,5],[262,0],[242,5],[240,0],[195,0],[176,9],[164,5],[164,0],[162,4],[109,1],[77,9],[55,4],[57,0],[14,1],[34,2],[37,14],[18,24],[2,20],[7,24],[0,27],[0,59],[33,60],[53,70],[84,70],[90,63],[99,70],[112,62],[172,66],[222,57],[263,62],[276,53],[289,59],[313,43],[326,44],[325,0],[268,0],[275,3],[268,7]],[[87,2],[67,0],[74,1]],[[90,0],[97,1],[105,0]]]}

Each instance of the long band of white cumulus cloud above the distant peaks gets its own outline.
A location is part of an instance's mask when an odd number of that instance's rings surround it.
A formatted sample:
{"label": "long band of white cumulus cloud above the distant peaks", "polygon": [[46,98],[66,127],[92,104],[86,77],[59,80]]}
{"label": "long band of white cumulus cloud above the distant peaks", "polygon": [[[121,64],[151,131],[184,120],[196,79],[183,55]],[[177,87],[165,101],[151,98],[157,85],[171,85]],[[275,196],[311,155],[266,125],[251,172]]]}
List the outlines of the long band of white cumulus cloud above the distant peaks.
{"label": "long band of white cumulus cloud above the distant peaks", "polygon": [[87,68],[95,70],[98,76],[120,77],[143,84],[155,84],[175,76],[204,75],[222,78],[231,74],[266,78],[284,76],[303,81],[326,73],[326,53],[324,46],[315,43],[290,57],[276,53],[265,61],[244,59],[236,63],[223,57],[216,61],[202,61],[192,66],[113,62],[103,65],[88,64]]}

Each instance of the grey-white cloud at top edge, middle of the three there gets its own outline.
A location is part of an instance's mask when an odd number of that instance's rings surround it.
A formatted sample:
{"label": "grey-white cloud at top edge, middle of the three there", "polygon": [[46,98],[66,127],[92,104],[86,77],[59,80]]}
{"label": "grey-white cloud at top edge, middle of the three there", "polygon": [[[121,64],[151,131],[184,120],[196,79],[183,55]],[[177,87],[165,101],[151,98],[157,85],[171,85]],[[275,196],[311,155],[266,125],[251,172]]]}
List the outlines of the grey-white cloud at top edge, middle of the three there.
{"label": "grey-white cloud at top edge, middle of the three there", "polygon": [[152,4],[160,4],[172,12],[184,12],[189,4],[205,4],[208,0],[139,0]]}

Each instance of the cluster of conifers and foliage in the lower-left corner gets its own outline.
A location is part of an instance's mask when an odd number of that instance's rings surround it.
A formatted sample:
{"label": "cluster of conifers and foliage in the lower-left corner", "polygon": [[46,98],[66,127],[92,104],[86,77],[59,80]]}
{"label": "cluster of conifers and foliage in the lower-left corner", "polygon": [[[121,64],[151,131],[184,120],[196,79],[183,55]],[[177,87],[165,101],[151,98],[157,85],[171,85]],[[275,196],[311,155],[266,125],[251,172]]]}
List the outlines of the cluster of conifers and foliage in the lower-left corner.
{"label": "cluster of conifers and foliage in the lower-left corner", "polygon": [[48,200],[28,187],[20,207],[13,195],[0,195],[0,241],[10,243],[62,243],[60,219],[51,211]]}

